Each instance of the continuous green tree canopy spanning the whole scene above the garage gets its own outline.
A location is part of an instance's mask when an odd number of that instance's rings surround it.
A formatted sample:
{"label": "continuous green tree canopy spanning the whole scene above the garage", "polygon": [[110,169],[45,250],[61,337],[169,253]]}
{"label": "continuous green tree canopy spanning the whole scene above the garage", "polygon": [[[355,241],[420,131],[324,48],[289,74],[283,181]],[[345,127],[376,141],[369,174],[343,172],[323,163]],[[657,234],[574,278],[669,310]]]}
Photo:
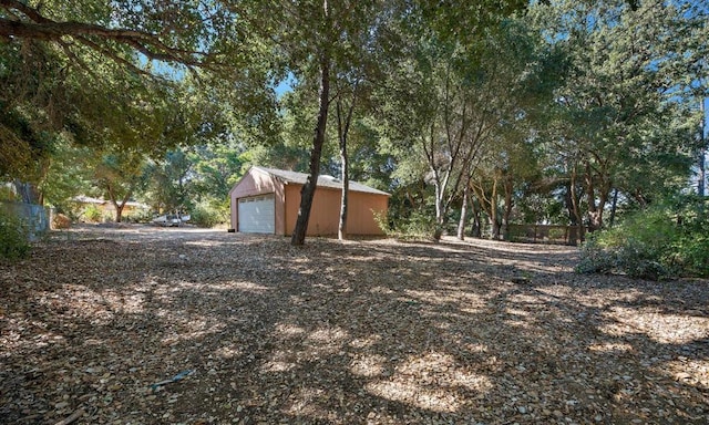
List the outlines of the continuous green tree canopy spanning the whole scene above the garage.
{"label": "continuous green tree canopy spanning the whole scene above the garage", "polygon": [[117,198],[223,217],[249,165],[308,172],[295,245],[321,172],[392,193],[390,225],[434,236],[593,231],[687,190],[706,152],[707,14],[651,0],[0,0],[0,175],[35,201],[111,197],[120,180],[135,189]]}

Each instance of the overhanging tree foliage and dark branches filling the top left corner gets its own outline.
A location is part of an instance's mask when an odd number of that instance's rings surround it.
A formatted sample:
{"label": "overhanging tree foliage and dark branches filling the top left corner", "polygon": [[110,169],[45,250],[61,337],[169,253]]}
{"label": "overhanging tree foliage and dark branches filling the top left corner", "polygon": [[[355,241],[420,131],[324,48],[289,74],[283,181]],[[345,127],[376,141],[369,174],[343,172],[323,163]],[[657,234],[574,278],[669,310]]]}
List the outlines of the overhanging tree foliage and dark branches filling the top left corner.
{"label": "overhanging tree foliage and dark branches filling the top left corner", "polygon": [[[257,60],[267,50],[263,39],[243,37],[253,25],[246,17],[257,14],[242,6],[0,1],[0,174],[30,179],[27,191],[41,200],[35,188],[60,138],[102,149],[104,141],[120,137],[124,146],[153,156],[169,147],[156,142],[185,143],[184,129],[195,128],[168,118],[184,116],[175,101],[185,97],[175,95],[175,85],[186,75],[219,89],[232,112],[258,108],[247,117],[253,122],[273,115],[266,61]],[[161,115],[167,106],[177,113]],[[155,129],[172,135],[141,134]]]}

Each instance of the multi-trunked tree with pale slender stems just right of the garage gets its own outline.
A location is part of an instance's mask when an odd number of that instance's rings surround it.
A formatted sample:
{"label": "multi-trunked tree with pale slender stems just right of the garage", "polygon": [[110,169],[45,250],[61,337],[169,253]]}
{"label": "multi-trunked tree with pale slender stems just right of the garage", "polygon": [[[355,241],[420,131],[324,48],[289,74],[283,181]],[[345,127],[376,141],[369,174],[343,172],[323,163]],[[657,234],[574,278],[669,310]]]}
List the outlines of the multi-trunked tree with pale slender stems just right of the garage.
{"label": "multi-trunked tree with pale slender stems just right of the garage", "polygon": [[[520,19],[479,30],[467,44],[432,37],[417,44],[413,58],[397,74],[405,82],[389,96],[388,120],[394,137],[411,139],[425,158],[438,238],[454,203],[462,199],[467,207],[471,179],[483,156],[501,157],[486,152],[503,146],[489,146],[491,141],[528,131],[535,104],[551,94],[548,64],[554,58]],[[523,139],[517,136],[514,143]],[[408,156],[411,149],[401,153]],[[461,219],[465,216],[463,211]]]}

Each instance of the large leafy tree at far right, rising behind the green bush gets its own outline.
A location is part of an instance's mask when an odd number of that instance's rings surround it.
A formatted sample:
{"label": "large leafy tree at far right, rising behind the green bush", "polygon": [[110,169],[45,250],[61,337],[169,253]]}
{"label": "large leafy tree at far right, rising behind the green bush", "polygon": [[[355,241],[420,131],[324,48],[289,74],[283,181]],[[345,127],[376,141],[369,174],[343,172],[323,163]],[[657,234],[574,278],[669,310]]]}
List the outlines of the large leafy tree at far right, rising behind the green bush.
{"label": "large leafy tree at far right, rising behind the green bush", "polygon": [[[545,18],[538,28],[546,39],[564,45],[572,61],[556,92],[554,137],[575,160],[563,168],[572,172],[569,189],[576,182],[583,187],[590,230],[604,226],[614,190],[646,203],[688,176],[696,148],[689,128],[697,122],[690,105],[707,90],[695,84],[707,55],[706,11],[697,8],[609,0],[531,9]],[[640,176],[658,177],[657,184],[640,184]]]}

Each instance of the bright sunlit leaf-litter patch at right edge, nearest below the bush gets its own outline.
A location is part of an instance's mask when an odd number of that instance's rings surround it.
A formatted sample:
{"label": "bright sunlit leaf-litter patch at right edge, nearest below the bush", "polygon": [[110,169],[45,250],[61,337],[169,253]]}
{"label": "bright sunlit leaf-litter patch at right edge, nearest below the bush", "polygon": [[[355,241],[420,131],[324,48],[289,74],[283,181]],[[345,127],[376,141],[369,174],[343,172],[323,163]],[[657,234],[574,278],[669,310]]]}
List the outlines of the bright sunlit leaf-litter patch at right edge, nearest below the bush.
{"label": "bright sunlit leaf-litter patch at right edge, nearest below the bush", "polygon": [[685,344],[709,338],[709,318],[645,310],[614,307],[604,313],[614,323],[600,326],[600,331],[610,335],[644,333],[661,344]]}

